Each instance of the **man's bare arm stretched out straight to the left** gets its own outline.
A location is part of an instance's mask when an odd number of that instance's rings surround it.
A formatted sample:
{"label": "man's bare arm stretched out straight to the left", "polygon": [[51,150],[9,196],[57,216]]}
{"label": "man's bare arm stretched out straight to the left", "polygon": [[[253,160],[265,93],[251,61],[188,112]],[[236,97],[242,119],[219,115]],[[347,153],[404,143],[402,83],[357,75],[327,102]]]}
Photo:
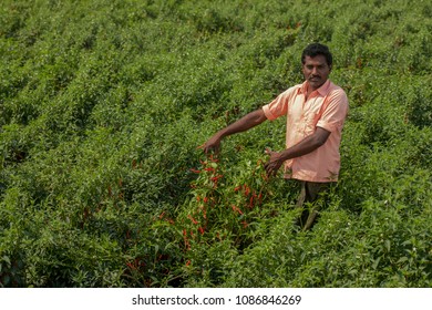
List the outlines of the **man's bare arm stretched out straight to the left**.
{"label": "man's bare arm stretched out straight to the left", "polygon": [[226,126],[225,128],[218,131],[215,135],[213,135],[206,143],[199,146],[199,148],[204,149],[204,153],[208,153],[210,151],[216,154],[220,151],[220,141],[228,136],[240,132],[246,132],[251,127],[255,127],[267,120],[264,114],[263,108],[258,108],[254,112],[250,112],[243,116],[240,120],[235,123]]}

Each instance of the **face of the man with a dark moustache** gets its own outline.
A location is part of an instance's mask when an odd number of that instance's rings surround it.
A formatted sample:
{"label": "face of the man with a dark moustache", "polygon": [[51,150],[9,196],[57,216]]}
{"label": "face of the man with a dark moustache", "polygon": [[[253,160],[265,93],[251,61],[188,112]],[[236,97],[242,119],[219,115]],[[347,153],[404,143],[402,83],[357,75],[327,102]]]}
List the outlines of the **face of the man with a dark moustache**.
{"label": "face of the man with a dark moustache", "polygon": [[313,58],[306,56],[302,65],[305,80],[308,81],[312,91],[318,90],[323,83],[326,83],[331,66],[327,64],[325,55],[316,55]]}

